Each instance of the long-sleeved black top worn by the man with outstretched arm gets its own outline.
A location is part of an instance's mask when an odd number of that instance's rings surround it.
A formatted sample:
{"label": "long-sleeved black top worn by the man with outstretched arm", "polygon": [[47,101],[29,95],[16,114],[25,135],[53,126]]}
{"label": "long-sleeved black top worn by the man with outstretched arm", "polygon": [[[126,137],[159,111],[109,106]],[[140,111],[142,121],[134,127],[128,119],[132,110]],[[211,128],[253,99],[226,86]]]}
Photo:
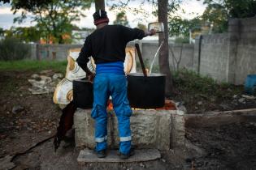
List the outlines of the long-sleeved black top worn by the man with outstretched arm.
{"label": "long-sleeved black top worn by the man with outstretched arm", "polygon": [[106,25],[95,30],[86,37],[76,62],[86,70],[89,57],[92,56],[95,63],[118,62],[125,59],[125,47],[131,40],[142,39],[145,32],[138,28],[127,28],[122,25]]}

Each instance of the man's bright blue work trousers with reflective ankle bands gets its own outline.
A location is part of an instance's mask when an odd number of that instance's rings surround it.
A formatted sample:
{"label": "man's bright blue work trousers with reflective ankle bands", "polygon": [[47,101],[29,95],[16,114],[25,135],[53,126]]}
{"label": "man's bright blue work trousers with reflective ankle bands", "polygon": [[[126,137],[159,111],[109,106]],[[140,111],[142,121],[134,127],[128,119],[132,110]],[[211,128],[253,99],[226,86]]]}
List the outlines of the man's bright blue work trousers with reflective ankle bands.
{"label": "man's bright blue work trousers with reflective ankle bands", "polygon": [[132,109],[127,98],[127,79],[124,74],[96,74],[93,82],[93,110],[91,116],[95,120],[96,151],[106,149],[107,113],[106,104],[112,97],[115,115],[118,120],[119,151],[128,154],[131,149],[130,117]]}

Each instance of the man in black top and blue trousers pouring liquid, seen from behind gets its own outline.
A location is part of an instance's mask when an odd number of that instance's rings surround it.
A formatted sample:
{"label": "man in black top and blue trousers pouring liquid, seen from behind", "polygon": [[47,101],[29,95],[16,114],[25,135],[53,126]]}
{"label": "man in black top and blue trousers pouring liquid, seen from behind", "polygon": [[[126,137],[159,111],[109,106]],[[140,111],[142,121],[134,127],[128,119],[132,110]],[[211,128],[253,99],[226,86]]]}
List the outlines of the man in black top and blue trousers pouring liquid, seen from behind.
{"label": "man in black top and blue trousers pouring liquid, seen from behind", "polygon": [[[127,98],[127,80],[124,74],[125,47],[131,40],[142,39],[155,34],[154,30],[144,32],[138,28],[127,28],[122,25],[108,25],[106,11],[93,14],[97,29],[87,36],[76,62],[85,70],[89,80],[93,81],[93,110],[95,120],[95,151],[99,158],[106,157],[106,103],[109,97],[118,119],[119,154],[127,159],[133,154],[131,150],[130,117],[132,110]],[[96,76],[87,68],[89,57],[96,63]]]}

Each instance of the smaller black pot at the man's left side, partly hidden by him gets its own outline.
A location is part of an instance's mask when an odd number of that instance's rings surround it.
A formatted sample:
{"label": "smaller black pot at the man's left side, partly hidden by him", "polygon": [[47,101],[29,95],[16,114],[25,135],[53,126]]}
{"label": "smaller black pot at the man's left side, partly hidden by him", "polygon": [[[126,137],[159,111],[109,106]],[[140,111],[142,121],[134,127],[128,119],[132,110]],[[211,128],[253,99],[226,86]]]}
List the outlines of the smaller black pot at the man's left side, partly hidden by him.
{"label": "smaller black pot at the man's left side, partly hidden by him", "polygon": [[93,83],[85,79],[74,80],[73,101],[77,108],[93,108]]}

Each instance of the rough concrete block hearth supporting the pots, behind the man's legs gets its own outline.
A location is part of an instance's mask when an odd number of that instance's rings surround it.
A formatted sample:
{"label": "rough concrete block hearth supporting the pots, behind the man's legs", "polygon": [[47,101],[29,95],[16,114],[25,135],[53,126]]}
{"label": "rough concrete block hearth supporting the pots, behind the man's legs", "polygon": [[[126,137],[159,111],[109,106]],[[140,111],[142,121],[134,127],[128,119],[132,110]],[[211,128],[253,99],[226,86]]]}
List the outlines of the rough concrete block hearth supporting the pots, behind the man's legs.
{"label": "rough concrete block hearth supporting the pots, behind the man's legs", "polygon": [[[184,143],[184,112],[181,110],[132,109],[132,145],[138,148],[169,150]],[[77,147],[95,147],[91,109],[77,109],[74,115]],[[109,147],[119,147],[115,113],[108,113]]]}

